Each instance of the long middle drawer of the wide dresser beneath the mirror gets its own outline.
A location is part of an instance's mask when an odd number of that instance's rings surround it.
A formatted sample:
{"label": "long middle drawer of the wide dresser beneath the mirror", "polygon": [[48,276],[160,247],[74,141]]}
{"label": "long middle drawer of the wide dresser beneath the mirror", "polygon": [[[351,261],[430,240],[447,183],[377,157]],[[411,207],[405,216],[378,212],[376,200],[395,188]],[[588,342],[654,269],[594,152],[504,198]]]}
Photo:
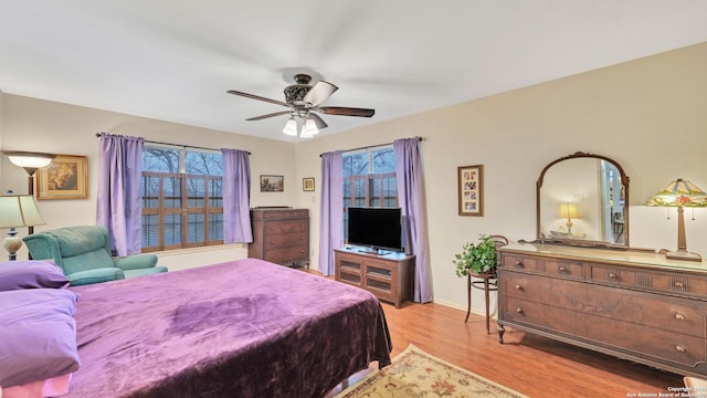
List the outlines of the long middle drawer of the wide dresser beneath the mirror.
{"label": "long middle drawer of the wide dresser beneath the mirror", "polygon": [[621,291],[581,282],[514,272],[499,274],[503,293],[521,302],[707,338],[707,305],[652,293]]}

